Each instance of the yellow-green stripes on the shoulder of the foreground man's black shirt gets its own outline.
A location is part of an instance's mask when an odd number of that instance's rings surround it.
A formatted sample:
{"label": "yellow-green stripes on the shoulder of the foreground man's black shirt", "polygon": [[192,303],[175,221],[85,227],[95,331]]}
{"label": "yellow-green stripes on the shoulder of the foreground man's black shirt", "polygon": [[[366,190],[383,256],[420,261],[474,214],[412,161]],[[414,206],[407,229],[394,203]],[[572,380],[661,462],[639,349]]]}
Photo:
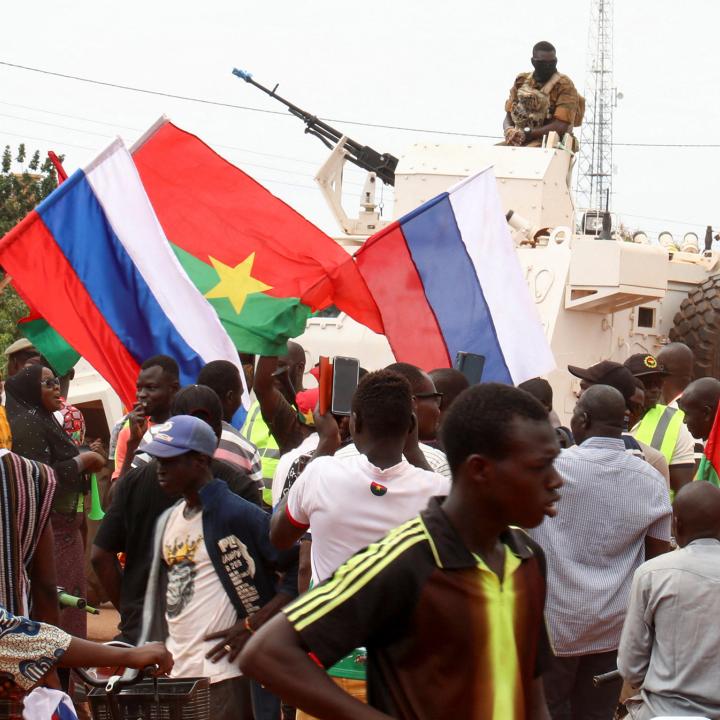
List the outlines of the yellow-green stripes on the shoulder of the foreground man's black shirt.
{"label": "yellow-green stripes on the shoulder of the foreground man's black shirt", "polygon": [[283,610],[297,632],[302,632],[367,585],[390,563],[428,536],[420,518],[391,530],[380,542],[353,555],[326,583],[306,593]]}

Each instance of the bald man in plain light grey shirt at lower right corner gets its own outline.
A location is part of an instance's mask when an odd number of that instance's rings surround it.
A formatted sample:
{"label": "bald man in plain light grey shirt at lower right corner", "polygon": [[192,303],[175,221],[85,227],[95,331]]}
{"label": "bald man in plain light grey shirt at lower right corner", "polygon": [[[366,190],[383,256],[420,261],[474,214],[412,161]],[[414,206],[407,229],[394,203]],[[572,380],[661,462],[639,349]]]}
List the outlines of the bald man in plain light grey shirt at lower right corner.
{"label": "bald man in plain light grey shirt at lower right corner", "polygon": [[674,509],[682,550],[637,569],[620,639],[620,673],[640,688],[633,720],[720,717],[720,490],[690,483]]}

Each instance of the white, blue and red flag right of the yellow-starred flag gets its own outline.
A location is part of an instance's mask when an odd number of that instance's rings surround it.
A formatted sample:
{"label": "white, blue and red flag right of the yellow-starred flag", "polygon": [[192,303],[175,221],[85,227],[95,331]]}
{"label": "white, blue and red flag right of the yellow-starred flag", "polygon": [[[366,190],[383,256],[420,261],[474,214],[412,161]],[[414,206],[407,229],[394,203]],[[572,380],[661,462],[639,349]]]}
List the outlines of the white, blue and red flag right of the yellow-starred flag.
{"label": "white, blue and red flag right of the yellow-starred flag", "polygon": [[492,169],[388,225],[354,257],[397,360],[431,370],[477,353],[483,381],[513,385],[555,367]]}

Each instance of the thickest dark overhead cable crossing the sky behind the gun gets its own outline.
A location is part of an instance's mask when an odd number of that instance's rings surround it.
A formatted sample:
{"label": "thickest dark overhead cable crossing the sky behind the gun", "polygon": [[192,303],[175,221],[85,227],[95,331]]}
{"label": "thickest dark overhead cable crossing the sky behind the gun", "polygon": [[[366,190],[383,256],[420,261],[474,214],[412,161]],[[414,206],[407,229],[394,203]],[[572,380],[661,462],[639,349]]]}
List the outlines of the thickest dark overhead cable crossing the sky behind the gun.
{"label": "thickest dark overhead cable crossing the sky behind the gun", "polygon": [[[0,60],[0,65],[14,68],[16,70],[25,70],[27,72],[39,73],[41,75],[49,75],[59,77],[65,80],[75,80],[77,82],[88,83],[91,85],[99,85],[102,87],[115,88],[117,90],[127,90],[129,92],[142,93],[144,95],[155,95],[158,97],[171,98],[173,100],[183,100],[185,102],[200,103],[202,105],[214,105],[216,107],[230,108],[232,110],[244,110],[247,112],[263,113],[265,115],[279,115],[281,117],[290,117],[290,115],[282,110],[267,110],[265,108],[253,107],[251,105],[238,105],[236,103],[223,102],[221,100],[210,100],[208,98],[198,98],[190,95],[179,95],[163,90],[150,90],[148,88],[139,88],[132,85],[124,85],[122,83],[113,83],[105,80],[95,80],[94,78],[82,77],[80,75],[71,75],[69,73],[59,73],[54,70],[45,70],[44,68],[31,67],[29,65],[20,65],[5,60]],[[357,125],[358,127],[380,128],[383,130],[400,130],[402,132],[416,132],[429,135],[450,135],[454,137],[482,138],[487,140],[498,140],[500,135],[485,135],[481,133],[458,132],[455,130],[437,130],[433,128],[417,128],[405,125],[387,125],[383,123],[372,123],[361,120],[347,120],[344,118],[321,118],[325,122],[342,123],[344,125]],[[720,148],[720,143],[648,143],[648,142],[613,142],[618,147],[655,147],[655,148]]]}

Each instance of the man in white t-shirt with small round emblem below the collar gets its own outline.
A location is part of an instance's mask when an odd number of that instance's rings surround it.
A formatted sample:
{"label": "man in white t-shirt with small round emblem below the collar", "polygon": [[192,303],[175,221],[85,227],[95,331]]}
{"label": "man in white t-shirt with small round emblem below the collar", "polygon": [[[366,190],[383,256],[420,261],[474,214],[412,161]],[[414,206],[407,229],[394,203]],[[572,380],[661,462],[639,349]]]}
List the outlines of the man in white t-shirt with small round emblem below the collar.
{"label": "man in white t-shirt with small round emblem below the collar", "polygon": [[[275,510],[270,539],[276,547],[288,548],[308,529],[312,532],[314,585],[398,523],[415,517],[431,497],[449,492],[447,478],[403,457],[408,436],[416,432],[412,398],[410,383],[396,372],[379,370],[363,378],[350,420],[359,452],[313,460]],[[341,687],[361,698],[362,656],[356,651],[329,671]]]}

